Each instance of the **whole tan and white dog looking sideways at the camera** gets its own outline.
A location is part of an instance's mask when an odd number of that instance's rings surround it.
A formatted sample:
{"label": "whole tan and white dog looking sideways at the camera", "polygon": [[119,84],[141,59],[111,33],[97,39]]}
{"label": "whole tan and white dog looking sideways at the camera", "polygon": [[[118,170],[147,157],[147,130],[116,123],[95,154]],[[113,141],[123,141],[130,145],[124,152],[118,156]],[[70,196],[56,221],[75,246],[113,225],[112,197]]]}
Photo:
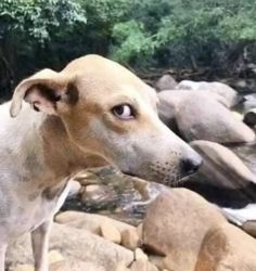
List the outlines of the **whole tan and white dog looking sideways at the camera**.
{"label": "whole tan and white dog looking sideways at the camera", "polygon": [[49,228],[67,178],[99,158],[167,184],[201,164],[159,121],[154,90],[101,56],[23,80],[11,103],[15,119],[9,107],[0,106],[0,271],[8,244],[24,232],[31,232],[36,271],[48,270]]}

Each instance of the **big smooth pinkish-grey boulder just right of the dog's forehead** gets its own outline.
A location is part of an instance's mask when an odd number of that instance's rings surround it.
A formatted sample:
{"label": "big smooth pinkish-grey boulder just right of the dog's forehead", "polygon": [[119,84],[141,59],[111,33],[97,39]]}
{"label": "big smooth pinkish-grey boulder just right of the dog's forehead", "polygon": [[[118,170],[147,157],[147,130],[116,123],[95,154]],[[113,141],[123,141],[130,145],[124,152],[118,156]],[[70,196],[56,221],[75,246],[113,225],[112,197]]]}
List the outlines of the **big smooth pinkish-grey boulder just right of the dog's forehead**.
{"label": "big smooth pinkish-grey boulder just right of the dog's forehead", "polygon": [[255,140],[254,131],[235,118],[214,93],[163,91],[158,99],[161,119],[187,141],[242,143]]}

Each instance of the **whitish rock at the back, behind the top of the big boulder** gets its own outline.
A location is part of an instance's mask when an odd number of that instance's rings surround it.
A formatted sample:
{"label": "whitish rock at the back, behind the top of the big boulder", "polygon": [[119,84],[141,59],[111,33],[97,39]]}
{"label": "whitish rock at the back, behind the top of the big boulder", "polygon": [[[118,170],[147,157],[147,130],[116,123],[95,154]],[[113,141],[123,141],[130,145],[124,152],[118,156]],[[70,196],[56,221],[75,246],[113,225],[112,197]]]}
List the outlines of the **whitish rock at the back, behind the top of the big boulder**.
{"label": "whitish rock at the back, behind the top of the big boulder", "polygon": [[234,106],[240,101],[238,92],[228,85],[222,82],[183,80],[177,85],[176,89],[193,90],[193,91],[201,90],[201,91],[216,93],[222,98],[222,103],[229,108]]}

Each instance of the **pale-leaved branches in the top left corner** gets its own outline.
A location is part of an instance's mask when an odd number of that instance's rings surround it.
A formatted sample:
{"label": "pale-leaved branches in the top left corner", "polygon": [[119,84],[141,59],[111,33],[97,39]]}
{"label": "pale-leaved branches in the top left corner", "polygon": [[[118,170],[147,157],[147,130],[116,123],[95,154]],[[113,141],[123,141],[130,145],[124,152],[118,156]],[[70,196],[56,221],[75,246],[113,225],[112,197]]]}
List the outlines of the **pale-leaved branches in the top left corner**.
{"label": "pale-leaved branches in the top left corner", "polygon": [[78,3],[72,0],[2,0],[1,34],[28,36],[43,43],[54,31],[65,31],[77,22],[86,23]]}

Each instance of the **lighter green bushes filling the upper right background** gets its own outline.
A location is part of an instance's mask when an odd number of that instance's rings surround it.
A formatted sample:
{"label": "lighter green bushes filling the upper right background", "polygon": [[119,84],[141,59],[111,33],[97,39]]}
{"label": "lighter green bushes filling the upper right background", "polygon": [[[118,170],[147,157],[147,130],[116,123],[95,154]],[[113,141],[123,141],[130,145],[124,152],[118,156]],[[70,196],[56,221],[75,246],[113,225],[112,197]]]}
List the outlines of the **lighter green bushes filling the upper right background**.
{"label": "lighter green bushes filling the upper right background", "polygon": [[149,65],[222,65],[230,43],[256,41],[255,18],[253,0],[135,0],[127,22],[113,28],[113,55],[136,65],[145,56]]}

